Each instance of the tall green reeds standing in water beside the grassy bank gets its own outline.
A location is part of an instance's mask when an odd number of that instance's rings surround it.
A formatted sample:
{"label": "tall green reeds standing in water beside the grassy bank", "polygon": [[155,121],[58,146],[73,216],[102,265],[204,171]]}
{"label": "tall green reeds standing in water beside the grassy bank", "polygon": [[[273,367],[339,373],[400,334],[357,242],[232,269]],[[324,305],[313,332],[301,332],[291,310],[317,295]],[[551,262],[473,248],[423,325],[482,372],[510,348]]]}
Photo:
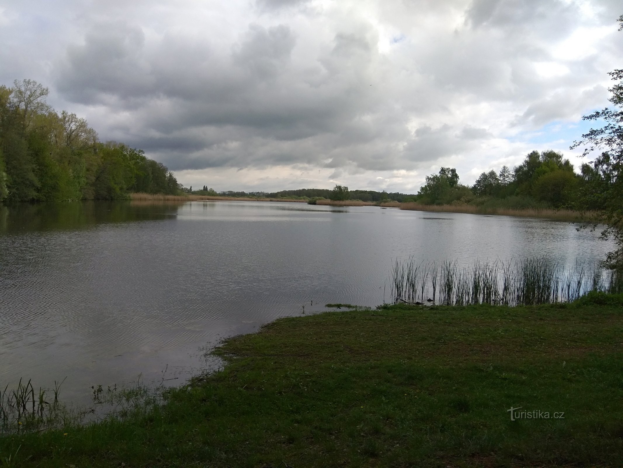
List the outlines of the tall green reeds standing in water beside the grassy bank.
{"label": "tall green reeds standing in water beside the grassy bank", "polygon": [[442,305],[536,305],[574,301],[589,291],[623,292],[621,271],[581,262],[566,269],[548,258],[460,267],[409,256],[394,262],[390,280],[395,302]]}

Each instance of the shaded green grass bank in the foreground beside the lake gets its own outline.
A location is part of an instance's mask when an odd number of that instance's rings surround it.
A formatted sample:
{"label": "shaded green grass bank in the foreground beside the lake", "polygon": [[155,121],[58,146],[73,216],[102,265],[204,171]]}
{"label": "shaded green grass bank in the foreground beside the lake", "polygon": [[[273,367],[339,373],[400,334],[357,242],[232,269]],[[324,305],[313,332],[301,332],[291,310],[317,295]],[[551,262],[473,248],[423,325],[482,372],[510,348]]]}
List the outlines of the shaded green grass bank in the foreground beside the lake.
{"label": "shaded green grass bank in the foreground beside the lake", "polygon": [[[5,437],[0,459],[26,467],[620,466],[623,299],[604,297],[279,319],[229,339],[217,350],[229,361],[224,370],[169,392],[163,406]],[[564,419],[511,421],[510,407]]]}

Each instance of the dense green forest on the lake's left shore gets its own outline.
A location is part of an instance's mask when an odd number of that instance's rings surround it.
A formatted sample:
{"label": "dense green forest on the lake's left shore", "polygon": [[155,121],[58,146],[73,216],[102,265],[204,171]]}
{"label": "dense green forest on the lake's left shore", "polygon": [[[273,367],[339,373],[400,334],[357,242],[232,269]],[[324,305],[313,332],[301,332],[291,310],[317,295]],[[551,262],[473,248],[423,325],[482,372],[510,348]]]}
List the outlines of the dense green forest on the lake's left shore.
{"label": "dense green forest on the lake's left shore", "polygon": [[34,80],[0,85],[0,202],[123,200],[130,192],[180,192],[142,150],[100,142],[85,119],[45,102]]}

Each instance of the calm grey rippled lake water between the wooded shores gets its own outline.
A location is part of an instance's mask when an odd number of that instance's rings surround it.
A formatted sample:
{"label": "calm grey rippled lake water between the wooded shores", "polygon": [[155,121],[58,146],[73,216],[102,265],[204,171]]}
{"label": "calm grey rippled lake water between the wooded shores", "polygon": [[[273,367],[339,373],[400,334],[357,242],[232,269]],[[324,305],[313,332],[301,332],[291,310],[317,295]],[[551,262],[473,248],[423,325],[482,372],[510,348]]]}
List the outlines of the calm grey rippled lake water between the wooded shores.
{"label": "calm grey rippled lake water between the wooded shores", "polygon": [[[602,258],[547,220],[305,203],[129,202],[0,208],[0,384],[86,402],[94,384],[178,380],[202,349],[325,303],[389,301],[394,258]],[[312,306],[313,301],[313,306]],[[166,369],[166,372],[165,372]]]}

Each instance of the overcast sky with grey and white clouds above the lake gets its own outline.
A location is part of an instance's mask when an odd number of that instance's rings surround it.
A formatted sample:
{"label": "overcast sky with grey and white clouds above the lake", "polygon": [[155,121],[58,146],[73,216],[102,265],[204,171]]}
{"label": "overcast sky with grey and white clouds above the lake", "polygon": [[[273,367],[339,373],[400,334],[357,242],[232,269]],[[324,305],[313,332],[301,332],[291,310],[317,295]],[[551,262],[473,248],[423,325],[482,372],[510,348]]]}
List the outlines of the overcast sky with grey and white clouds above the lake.
{"label": "overcast sky with grey and white clouds above the lake", "polygon": [[569,145],[623,66],[620,0],[3,0],[35,79],[188,187],[414,192]]}

